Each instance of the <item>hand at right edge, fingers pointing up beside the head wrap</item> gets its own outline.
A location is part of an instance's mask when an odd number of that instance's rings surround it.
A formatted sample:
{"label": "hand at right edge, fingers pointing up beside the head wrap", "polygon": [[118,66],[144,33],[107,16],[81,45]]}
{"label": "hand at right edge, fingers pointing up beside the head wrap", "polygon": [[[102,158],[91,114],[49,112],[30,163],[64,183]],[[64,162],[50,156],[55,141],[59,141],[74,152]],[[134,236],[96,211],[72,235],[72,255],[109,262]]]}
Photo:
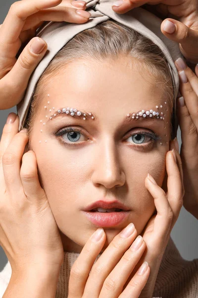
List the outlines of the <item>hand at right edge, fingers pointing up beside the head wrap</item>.
{"label": "hand at right edge, fingers pointing up beside the head wrap", "polygon": [[185,188],[183,206],[198,219],[198,68],[195,74],[181,58],[175,61],[175,65],[179,72],[179,91],[182,95],[177,98],[177,117],[182,139],[180,155]]}

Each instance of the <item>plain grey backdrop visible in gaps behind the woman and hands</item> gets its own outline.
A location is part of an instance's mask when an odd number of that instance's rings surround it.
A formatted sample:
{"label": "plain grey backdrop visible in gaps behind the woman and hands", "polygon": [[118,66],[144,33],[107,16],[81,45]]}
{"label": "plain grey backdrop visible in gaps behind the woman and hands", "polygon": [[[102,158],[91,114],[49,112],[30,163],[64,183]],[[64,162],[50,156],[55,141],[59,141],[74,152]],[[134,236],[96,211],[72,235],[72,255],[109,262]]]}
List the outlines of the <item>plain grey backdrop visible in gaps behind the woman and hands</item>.
{"label": "plain grey backdrop visible in gaps behind the woman and hands", "polygon": [[[3,22],[9,7],[13,2],[13,0],[0,0],[0,23]],[[16,113],[16,107],[0,111],[0,136],[10,112]],[[178,141],[181,146],[180,130],[178,131]],[[184,259],[193,260],[198,258],[198,220],[183,207],[171,232],[171,237]],[[7,257],[0,247],[0,271],[3,269],[6,262]]]}

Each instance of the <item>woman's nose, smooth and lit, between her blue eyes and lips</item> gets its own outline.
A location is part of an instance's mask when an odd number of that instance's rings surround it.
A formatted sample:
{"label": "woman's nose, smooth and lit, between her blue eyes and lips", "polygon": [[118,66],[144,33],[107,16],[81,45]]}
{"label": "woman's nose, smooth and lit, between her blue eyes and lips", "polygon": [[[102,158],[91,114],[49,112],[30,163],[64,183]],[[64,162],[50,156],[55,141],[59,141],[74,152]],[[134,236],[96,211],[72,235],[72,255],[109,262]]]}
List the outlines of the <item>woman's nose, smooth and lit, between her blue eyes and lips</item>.
{"label": "woman's nose, smooth and lit, between her blue eyes and lips", "polygon": [[102,142],[95,156],[92,182],[102,184],[105,188],[122,186],[125,183],[125,174],[120,165],[119,152],[113,141]]}

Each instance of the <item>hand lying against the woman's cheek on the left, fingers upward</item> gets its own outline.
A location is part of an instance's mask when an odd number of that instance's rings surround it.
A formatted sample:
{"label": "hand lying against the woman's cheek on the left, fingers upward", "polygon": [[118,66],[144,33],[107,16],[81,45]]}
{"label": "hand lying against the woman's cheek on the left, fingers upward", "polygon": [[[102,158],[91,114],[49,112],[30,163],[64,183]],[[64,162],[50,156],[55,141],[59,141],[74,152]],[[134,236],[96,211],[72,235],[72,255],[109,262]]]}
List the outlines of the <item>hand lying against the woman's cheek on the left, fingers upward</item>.
{"label": "hand lying against the woman's cheek on the left, fingers upward", "polygon": [[0,140],[0,245],[14,273],[60,269],[59,230],[39,182],[35,152],[24,153],[29,139],[18,126],[17,116],[5,124]]}

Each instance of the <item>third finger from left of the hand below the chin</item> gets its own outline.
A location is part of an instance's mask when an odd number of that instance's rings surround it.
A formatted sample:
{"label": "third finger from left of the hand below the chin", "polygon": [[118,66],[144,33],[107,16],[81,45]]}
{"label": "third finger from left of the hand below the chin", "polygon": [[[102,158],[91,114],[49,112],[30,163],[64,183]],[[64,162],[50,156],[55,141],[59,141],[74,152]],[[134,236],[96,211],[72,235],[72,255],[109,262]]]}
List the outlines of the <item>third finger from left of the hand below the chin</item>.
{"label": "third finger from left of the hand below the chin", "polygon": [[[142,257],[142,254],[145,251],[145,249],[146,249],[145,241],[143,240],[142,236],[138,236],[136,240],[132,243],[130,248],[124,253],[121,260],[117,263],[114,269],[104,280],[102,289],[99,293],[100,297],[114,298],[114,297],[118,297],[122,293],[124,285],[126,284],[130,274],[132,273],[135,266],[137,265],[140,258]],[[132,279],[130,281],[131,285],[133,282],[134,280]],[[139,284],[137,284],[136,287],[134,288],[132,287],[128,288],[128,291],[129,289],[131,289],[130,294],[133,297],[139,297],[143,289],[142,286],[144,282],[145,282],[145,278],[142,279],[139,276]],[[92,291],[93,291],[93,287],[92,287]],[[85,293],[87,295],[86,291]],[[87,295],[87,297],[90,297],[90,296]]]}

